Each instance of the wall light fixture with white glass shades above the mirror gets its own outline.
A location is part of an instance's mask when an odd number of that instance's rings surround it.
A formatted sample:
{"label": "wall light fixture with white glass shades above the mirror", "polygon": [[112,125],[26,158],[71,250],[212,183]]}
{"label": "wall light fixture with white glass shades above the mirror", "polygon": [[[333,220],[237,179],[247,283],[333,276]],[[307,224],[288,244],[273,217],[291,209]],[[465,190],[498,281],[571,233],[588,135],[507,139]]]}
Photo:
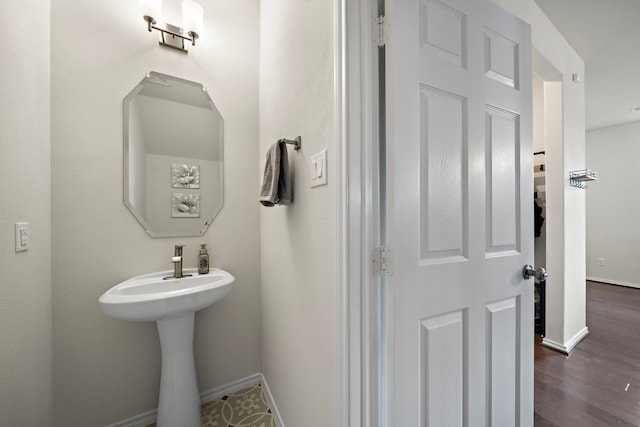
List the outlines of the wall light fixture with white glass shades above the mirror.
{"label": "wall light fixture with white glass shades above the mirror", "polygon": [[162,0],[138,0],[143,19],[147,23],[147,30],[160,32],[158,42],[162,45],[187,52],[186,41],[196,45],[196,40],[202,34],[204,10],[193,0],[182,0],[182,24],[184,28],[167,22],[159,22],[162,14]]}

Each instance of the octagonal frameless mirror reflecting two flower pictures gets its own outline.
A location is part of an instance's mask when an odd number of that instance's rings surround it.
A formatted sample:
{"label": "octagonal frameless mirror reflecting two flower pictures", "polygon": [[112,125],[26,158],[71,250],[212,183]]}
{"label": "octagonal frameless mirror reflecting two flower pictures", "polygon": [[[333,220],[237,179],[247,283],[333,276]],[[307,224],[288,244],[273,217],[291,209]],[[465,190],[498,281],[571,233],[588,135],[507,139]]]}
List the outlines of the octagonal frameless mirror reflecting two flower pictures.
{"label": "octagonal frameless mirror reflecting two flower pictures", "polygon": [[223,204],[223,120],[200,83],[150,72],[124,99],[124,204],[151,237],[200,236]]}

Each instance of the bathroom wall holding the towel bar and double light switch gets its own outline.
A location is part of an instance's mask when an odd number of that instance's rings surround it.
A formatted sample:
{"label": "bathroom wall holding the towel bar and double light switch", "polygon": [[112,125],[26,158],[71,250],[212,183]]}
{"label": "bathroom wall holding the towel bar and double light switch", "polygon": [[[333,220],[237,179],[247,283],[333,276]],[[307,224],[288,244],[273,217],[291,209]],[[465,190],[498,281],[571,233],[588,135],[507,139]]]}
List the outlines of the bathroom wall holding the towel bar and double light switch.
{"label": "bathroom wall holding the towel bar and double light switch", "polygon": [[[333,5],[261,1],[260,167],[289,148],[294,203],[261,208],[263,372],[287,426],[334,425],[335,158]],[[328,149],[328,186],[309,188],[309,156]]]}

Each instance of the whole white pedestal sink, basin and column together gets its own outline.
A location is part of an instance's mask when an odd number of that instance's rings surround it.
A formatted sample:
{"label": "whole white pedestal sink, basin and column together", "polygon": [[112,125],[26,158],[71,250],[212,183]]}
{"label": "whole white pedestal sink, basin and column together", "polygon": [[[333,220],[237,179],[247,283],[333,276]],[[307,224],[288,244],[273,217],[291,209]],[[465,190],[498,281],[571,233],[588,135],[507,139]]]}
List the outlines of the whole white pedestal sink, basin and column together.
{"label": "whole white pedestal sink, basin and column together", "polygon": [[[195,312],[224,298],[234,277],[224,270],[168,278],[173,271],[145,274],[119,283],[102,294],[102,311],[116,319],[155,321],[160,336],[162,370],[158,427],[202,425],[200,393],[193,361]],[[187,277],[187,275],[191,275]]]}

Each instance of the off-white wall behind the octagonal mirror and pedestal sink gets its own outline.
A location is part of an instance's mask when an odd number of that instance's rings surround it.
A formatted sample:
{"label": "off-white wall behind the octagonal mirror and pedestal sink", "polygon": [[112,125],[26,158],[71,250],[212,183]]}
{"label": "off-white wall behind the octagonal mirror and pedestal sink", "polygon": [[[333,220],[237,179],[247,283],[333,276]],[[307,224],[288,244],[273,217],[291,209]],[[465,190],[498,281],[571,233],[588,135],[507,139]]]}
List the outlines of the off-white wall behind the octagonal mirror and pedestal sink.
{"label": "off-white wall behind the octagonal mirror and pedestal sink", "polygon": [[[180,2],[164,4],[167,20],[179,23]],[[111,319],[97,300],[121,280],[170,269],[176,243],[187,245],[187,267],[207,243],[212,265],[236,277],[227,298],[196,315],[200,389],[260,371],[259,6],[255,0],[203,6],[202,38],[185,55],[158,45],[135,1],[52,1],[56,425],[106,425],[156,408],[155,324]],[[42,40],[48,43],[46,34]],[[225,119],[225,206],[202,238],[151,239],[122,202],[122,100],[152,70],[203,83]],[[27,94],[36,91],[27,87]],[[46,357],[34,353],[28,357]]]}

